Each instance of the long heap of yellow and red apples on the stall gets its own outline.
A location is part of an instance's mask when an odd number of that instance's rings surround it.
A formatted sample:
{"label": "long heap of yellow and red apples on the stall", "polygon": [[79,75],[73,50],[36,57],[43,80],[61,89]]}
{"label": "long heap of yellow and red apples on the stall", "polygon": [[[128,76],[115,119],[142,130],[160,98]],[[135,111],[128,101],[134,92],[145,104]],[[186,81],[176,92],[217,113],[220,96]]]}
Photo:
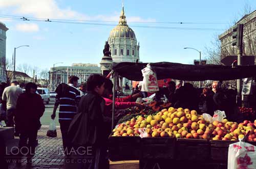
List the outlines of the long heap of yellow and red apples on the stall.
{"label": "long heap of yellow and red apples on the stall", "polygon": [[243,123],[229,122],[223,119],[221,122],[210,123],[196,110],[174,107],[162,109],[156,115],[146,118],[136,118],[119,124],[113,130],[112,136],[139,136],[144,128],[147,137],[176,137],[176,138],[202,138],[213,140],[238,140],[249,132],[249,141],[256,141],[256,120],[254,123],[244,121]]}

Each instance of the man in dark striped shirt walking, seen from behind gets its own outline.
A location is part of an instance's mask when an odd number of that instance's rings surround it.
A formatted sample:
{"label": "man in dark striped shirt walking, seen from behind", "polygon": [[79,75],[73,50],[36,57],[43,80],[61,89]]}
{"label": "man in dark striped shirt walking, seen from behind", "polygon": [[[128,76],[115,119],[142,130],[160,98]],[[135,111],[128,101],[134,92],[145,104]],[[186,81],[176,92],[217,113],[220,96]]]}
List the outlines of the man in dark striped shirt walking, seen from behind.
{"label": "man in dark striped shirt walking, seen from behind", "polygon": [[76,114],[78,102],[81,99],[80,91],[76,88],[78,77],[70,76],[69,83],[61,83],[55,92],[57,93],[53,108],[52,119],[56,117],[56,110],[59,105],[59,124],[62,135],[63,149],[66,156],[70,155],[72,145],[68,137],[68,129],[72,119]]}

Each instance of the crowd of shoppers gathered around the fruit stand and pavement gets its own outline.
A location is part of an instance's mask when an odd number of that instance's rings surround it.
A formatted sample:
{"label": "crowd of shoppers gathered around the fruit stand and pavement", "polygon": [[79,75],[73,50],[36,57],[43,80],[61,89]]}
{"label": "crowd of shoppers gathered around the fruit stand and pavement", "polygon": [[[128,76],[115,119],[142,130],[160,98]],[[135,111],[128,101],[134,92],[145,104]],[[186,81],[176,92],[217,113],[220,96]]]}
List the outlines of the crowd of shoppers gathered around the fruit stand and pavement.
{"label": "crowd of shoppers gathered around the fruit stand and pavement", "polygon": [[[59,106],[59,124],[62,134],[63,152],[67,158],[72,154],[79,154],[78,158],[87,159],[90,163],[81,163],[80,168],[109,168],[108,136],[111,133],[113,108],[113,83],[110,79],[99,74],[92,74],[87,83],[78,86],[79,78],[70,76],[69,83],[61,83],[56,88],[56,99],[51,118],[56,118]],[[19,147],[27,146],[28,164],[35,153],[37,131],[40,128],[40,117],[44,114],[45,105],[41,97],[36,94],[35,83],[27,83],[26,91],[16,86],[13,81],[10,87],[0,84],[3,109],[6,110],[6,126],[15,125],[15,135],[20,137]],[[195,109],[199,113],[206,112],[211,116],[215,110],[224,110],[229,119],[236,119],[236,102],[232,99],[232,92],[221,90],[217,81],[212,88],[196,89],[190,83],[185,83],[177,89],[174,81],[168,83],[168,88],[156,93],[165,95],[175,108],[184,107]],[[115,98],[115,109],[125,109],[133,106],[143,108],[136,103],[139,97],[146,97],[146,92],[137,86],[134,93],[124,98]],[[6,105],[6,106],[4,106]],[[117,116],[117,115],[115,115]],[[84,154],[81,148],[90,154]],[[84,150],[82,149],[82,150]],[[22,152],[20,152],[22,153]],[[24,154],[24,153],[23,153]],[[20,155],[21,156],[21,155]]]}

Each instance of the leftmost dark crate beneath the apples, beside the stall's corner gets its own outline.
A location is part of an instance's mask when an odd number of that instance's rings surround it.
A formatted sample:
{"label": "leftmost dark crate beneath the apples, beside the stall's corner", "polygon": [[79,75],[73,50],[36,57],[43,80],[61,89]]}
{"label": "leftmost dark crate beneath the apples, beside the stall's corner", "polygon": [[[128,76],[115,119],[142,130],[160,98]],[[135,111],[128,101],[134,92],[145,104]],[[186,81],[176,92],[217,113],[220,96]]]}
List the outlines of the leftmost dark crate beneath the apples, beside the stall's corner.
{"label": "leftmost dark crate beneath the apples, beside the stall's corner", "polygon": [[110,136],[109,155],[111,161],[139,160],[141,138],[139,136]]}

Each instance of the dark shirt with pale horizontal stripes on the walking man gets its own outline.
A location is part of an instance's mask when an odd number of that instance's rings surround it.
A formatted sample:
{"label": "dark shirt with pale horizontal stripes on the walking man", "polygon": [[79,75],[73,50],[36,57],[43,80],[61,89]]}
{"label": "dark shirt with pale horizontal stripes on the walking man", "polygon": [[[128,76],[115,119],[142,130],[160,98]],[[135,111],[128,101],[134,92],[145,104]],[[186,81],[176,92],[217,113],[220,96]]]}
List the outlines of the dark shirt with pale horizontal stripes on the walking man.
{"label": "dark shirt with pale horizontal stripes on the walking man", "polygon": [[72,84],[68,84],[65,94],[57,94],[55,104],[59,104],[59,122],[71,121],[76,114],[76,107],[81,99],[80,91]]}

